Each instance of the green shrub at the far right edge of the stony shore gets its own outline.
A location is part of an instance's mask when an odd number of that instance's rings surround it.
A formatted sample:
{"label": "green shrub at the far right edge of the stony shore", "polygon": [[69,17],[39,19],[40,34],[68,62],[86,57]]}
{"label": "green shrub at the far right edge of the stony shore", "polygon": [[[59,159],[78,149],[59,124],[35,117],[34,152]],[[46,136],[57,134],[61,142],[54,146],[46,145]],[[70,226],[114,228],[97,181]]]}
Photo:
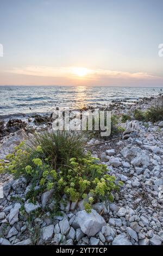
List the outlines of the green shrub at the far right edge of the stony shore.
{"label": "green shrub at the far right edge of the stony shore", "polygon": [[153,123],[163,120],[163,97],[159,97],[155,105],[148,108],[146,120],[152,121]]}

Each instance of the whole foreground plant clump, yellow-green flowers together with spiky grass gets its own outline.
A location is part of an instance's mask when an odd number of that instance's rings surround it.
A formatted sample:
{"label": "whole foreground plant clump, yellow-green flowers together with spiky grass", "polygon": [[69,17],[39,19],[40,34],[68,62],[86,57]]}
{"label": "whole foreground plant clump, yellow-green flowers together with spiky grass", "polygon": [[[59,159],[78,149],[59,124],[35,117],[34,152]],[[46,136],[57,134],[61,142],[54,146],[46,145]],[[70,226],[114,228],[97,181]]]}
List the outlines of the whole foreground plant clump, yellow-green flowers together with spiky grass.
{"label": "whole foreground plant clump, yellow-green flowers together with spiky grass", "polygon": [[24,176],[31,185],[27,197],[33,203],[39,193],[53,190],[58,204],[62,196],[65,202],[84,199],[85,210],[90,212],[93,203],[112,201],[111,192],[122,185],[99,159],[84,154],[84,137],[79,133],[35,133],[6,159],[9,162],[1,160],[1,172],[12,173],[15,178]]}

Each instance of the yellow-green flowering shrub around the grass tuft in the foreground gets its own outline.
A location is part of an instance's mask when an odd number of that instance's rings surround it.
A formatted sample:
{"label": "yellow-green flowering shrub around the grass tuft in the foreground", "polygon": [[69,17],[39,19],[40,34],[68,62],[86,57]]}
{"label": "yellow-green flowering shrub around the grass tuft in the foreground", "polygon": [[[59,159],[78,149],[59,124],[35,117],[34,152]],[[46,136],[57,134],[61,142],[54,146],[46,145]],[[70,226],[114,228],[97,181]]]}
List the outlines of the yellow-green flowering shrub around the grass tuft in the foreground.
{"label": "yellow-green flowering shrub around the grass tuft in the foreground", "polygon": [[[65,145],[65,139],[63,141]],[[66,147],[64,153],[68,156],[67,159],[61,161],[60,157],[57,156],[55,159],[57,168],[54,169],[53,157],[51,155],[47,157],[50,149],[46,147],[48,140],[45,139],[41,142],[42,144],[35,148],[34,144],[27,147],[21,143],[15,148],[13,154],[8,155],[9,163],[1,161],[1,169],[15,174],[16,177],[23,175],[27,178],[28,183],[33,185],[32,191],[34,193],[30,191],[27,195],[28,198],[30,195],[34,200],[37,194],[53,188],[53,196],[58,204],[63,195],[66,195],[66,199],[72,202],[85,199],[87,212],[91,210],[92,203],[105,199],[112,200],[111,192],[118,190],[119,185],[116,184],[114,176],[107,174],[108,169],[104,164],[99,164],[98,159],[91,157],[90,154],[83,156],[80,150],[78,156],[70,159],[70,155],[77,155],[77,152],[71,150],[71,154],[68,154],[69,149]],[[50,146],[52,147],[52,145]],[[35,191],[34,187],[37,185],[40,188]]]}

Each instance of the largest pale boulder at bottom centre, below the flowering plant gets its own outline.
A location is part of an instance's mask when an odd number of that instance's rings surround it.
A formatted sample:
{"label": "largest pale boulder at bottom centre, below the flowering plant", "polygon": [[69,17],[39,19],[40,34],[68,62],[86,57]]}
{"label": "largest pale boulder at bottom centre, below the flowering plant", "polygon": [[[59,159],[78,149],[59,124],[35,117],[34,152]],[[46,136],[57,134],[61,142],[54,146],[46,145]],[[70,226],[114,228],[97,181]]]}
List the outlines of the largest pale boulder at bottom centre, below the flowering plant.
{"label": "largest pale boulder at bottom centre, below the flowering plant", "polygon": [[89,236],[97,234],[106,224],[104,218],[93,209],[90,213],[78,211],[76,217],[83,233]]}

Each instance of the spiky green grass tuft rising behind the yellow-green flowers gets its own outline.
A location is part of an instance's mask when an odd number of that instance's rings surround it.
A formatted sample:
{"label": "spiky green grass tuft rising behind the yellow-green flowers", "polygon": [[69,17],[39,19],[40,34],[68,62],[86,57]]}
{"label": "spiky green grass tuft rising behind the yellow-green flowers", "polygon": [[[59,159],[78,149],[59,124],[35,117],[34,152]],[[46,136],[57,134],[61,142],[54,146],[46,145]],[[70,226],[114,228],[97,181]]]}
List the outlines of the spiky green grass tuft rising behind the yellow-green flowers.
{"label": "spiky green grass tuft rising behind the yellow-green flowers", "polygon": [[85,137],[80,132],[53,130],[35,133],[27,141],[32,151],[41,146],[40,157],[47,158],[53,168],[67,164],[71,157],[82,157],[84,144]]}

